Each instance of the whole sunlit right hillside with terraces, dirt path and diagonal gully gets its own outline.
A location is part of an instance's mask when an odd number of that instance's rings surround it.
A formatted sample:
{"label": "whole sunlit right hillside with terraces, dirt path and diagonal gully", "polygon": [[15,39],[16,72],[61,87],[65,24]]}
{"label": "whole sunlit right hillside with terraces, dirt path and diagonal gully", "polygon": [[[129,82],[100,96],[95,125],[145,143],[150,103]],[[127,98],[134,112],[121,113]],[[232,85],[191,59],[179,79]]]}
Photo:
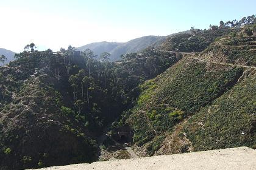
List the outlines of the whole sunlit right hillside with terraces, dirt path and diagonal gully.
{"label": "whole sunlit right hillside with terraces, dirt path and diagonal gully", "polygon": [[255,37],[239,34],[243,32],[217,39],[202,53],[185,55],[140,86],[126,121],[138,153],[255,148]]}

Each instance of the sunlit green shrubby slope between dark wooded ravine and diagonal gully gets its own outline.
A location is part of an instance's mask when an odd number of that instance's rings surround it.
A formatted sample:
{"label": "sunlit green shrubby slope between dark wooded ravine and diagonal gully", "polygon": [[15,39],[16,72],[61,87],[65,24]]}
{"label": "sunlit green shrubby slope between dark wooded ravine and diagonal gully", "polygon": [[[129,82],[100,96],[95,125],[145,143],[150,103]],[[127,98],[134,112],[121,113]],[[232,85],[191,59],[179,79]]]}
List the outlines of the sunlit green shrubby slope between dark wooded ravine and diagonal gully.
{"label": "sunlit green shrubby slope between dark wooded ravine and diagonal gully", "polygon": [[133,140],[140,146],[171,131],[187,115],[230,89],[242,73],[242,69],[183,58],[140,86],[143,91],[128,119],[134,132]]}

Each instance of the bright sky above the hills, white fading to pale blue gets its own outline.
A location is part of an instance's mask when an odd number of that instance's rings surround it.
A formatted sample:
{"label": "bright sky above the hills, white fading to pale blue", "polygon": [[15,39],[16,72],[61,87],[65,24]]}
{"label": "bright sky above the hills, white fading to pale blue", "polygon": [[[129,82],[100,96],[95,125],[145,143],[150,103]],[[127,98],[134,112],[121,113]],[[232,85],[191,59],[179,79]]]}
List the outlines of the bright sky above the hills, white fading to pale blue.
{"label": "bright sky above the hills, white fading to pale blue", "polygon": [[0,48],[21,52],[208,29],[256,14],[255,0],[0,0]]}

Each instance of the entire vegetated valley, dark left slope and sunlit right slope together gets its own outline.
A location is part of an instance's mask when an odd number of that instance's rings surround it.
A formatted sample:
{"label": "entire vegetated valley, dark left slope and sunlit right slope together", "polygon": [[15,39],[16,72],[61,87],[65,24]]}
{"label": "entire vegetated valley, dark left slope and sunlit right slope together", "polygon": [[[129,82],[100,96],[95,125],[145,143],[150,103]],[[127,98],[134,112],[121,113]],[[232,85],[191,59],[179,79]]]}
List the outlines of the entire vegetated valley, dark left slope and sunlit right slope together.
{"label": "entire vegetated valley, dark left slope and sunlit right slope together", "polygon": [[255,148],[255,33],[255,15],[221,21],[115,62],[27,44],[0,67],[0,169],[97,161],[116,141],[140,156]]}

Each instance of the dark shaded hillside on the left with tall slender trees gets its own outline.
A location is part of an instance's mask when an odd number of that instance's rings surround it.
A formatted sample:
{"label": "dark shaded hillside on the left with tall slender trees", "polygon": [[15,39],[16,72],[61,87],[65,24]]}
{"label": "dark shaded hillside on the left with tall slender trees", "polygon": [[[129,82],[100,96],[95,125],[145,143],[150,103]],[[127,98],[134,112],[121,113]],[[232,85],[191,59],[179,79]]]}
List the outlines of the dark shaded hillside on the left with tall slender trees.
{"label": "dark shaded hillside on the left with tall slender trees", "polygon": [[91,51],[54,54],[34,46],[0,67],[0,169],[98,160],[99,135],[135,100],[138,84],[177,62],[152,49],[110,63]]}

